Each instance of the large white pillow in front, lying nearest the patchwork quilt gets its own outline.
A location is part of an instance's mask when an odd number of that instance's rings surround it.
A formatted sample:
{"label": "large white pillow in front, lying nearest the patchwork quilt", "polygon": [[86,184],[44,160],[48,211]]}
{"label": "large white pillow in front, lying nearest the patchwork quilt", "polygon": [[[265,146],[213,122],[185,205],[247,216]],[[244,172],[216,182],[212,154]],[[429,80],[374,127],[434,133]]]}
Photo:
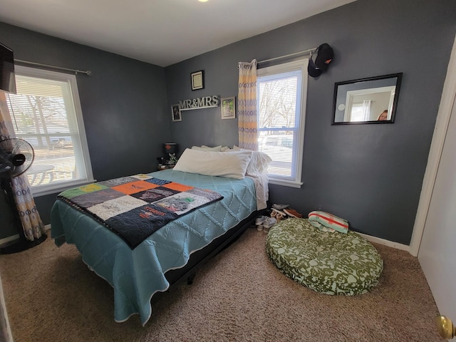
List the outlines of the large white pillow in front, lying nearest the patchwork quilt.
{"label": "large white pillow in front, lying nearest the patchwork quilt", "polygon": [[187,148],[173,170],[242,180],[251,156],[251,151],[207,152]]}

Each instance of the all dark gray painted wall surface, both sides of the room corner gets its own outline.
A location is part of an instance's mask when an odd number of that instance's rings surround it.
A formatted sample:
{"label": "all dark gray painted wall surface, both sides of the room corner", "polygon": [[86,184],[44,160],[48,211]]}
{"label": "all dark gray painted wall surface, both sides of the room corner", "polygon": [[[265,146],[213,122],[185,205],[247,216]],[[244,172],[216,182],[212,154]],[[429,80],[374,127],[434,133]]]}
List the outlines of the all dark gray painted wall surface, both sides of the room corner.
{"label": "all dark gray painted wall surface, both sides of the room corner", "polygon": [[[304,214],[321,208],[353,230],[409,244],[455,31],[453,0],[358,0],[165,70],[3,23],[0,42],[17,59],[93,71],[78,76],[78,88],[97,180],[153,170],[164,141],[181,151],[237,144],[237,120],[221,120],[219,108],[188,110],[171,123],[170,105],[237,96],[237,62],[327,42],[336,54],[331,66],[309,78],[304,185],[271,185],[271,202]],[[190,73],[199,70],[205,88],[192,91]],[[395,123],[331,125],[334,83],[400,72]],[[46,224],[54,199],[36,198]],[[6,210],[0,202],[2,216]]]}

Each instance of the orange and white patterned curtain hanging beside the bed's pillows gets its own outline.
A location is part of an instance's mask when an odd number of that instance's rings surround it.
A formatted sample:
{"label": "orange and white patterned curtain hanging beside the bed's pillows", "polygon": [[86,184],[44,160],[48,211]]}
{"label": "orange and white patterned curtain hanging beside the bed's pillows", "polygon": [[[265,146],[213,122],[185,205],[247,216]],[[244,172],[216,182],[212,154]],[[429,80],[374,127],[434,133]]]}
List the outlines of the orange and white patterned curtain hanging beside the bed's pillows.
{"label": "orange and white patterned curtain hanging beside the bed's pillows", "polygon": [[257,60],[239,62],[237,96],[239,147],[258,150],[257,130]]}

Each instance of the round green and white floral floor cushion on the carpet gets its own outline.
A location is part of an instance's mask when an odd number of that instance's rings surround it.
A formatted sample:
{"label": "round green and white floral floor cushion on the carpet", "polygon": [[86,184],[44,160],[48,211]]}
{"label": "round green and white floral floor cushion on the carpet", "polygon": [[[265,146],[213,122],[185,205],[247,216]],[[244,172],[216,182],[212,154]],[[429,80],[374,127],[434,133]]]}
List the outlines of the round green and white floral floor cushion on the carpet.
{"label": "round green and white floral floor cushion on the carpet", "polygon": [[323,294],[365,294],[383,271],[377,249],[361,235],[322,232],[307,219],[274,224],[266,253],[286,276]]}

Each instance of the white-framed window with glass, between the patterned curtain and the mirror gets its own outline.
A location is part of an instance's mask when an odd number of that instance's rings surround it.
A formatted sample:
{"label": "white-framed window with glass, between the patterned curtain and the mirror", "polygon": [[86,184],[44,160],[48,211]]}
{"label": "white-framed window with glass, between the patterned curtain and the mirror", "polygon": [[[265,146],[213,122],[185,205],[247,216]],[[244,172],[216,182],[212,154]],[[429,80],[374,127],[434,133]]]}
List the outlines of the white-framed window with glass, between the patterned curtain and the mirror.
{"label": "white-framed window with glass, between the patterned curtain and the mirror", "polygon": [[257,71],[258,146],[272,184],[301,187],[308,59]]}

